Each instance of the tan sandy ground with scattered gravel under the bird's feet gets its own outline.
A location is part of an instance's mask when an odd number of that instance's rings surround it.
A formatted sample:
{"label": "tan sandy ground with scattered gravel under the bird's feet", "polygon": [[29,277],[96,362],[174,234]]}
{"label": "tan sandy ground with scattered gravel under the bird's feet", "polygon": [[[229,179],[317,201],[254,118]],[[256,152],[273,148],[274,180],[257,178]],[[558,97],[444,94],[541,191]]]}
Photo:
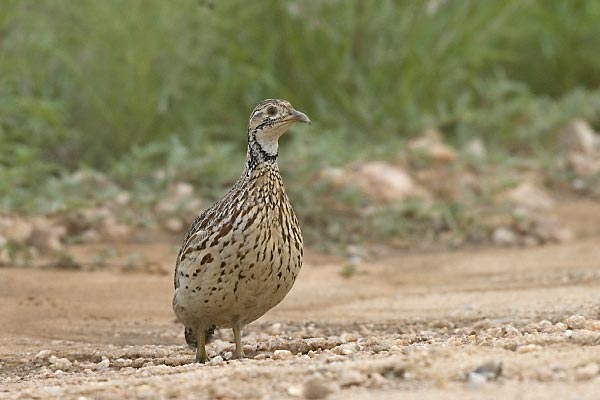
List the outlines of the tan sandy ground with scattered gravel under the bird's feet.
{"label": "tan sandy ground with scattered gravel under the bird's feet", "polygon": [[0,398],[597,399],[600,207],[587,207],[556,210],[583,236],[560,245],[390,254],[350,278],[309,252],[246,328],[249,358],[228,360],[223,330],[207,365],[171,311],[174,244],[117,246],[164,266],[152,274],[0,269]]}

